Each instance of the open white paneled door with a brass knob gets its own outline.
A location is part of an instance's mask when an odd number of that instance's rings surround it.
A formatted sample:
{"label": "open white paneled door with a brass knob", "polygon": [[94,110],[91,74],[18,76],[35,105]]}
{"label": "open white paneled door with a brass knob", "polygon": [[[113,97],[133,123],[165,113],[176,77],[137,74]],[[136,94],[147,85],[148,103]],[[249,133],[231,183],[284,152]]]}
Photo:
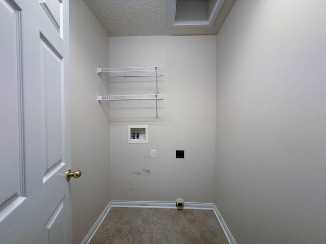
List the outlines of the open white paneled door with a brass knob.
{"label": "open white paneled door with a brass knob", "polygon": [[0,0],[0,243],[72,243],[68,54],[68,0]]}

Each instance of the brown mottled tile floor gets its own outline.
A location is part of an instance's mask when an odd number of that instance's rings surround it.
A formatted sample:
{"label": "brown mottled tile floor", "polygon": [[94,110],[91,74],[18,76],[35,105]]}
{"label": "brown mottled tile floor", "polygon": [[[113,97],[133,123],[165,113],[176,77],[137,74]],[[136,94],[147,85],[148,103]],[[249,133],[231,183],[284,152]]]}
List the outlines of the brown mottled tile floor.
{"label": "brown mottled tile floor", "polygon": [[90,244],[228,244],[212,210],[113,207]]}

